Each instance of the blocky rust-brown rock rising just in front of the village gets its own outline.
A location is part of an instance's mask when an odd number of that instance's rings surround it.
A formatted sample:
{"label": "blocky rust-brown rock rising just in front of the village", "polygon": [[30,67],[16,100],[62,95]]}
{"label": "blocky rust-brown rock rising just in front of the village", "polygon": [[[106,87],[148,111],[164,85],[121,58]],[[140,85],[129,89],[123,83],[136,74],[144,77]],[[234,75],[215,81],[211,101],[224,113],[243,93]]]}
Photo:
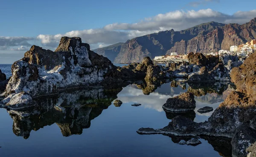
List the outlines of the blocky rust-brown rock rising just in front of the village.
{"label": "blocky rust-brown rock rising just in front of the village", "polygon": [[202,53],[190,52],[188,55],[188,60],[190,64],[196,64],[199,66],[205,66],[207,63],[207,58]]}

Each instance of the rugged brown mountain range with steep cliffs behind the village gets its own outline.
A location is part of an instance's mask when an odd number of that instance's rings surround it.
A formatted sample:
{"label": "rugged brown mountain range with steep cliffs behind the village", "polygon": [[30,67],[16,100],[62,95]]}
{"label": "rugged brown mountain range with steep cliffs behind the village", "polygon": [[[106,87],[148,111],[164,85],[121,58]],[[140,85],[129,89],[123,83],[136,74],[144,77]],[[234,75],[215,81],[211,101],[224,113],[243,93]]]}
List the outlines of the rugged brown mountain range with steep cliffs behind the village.
{"label": "rugged brown mountain range with steep cliffs behind the village", "polygon": [[93,51],[108,57],[113,63],[132,63],[140,62],[146,56],[152,59],[171,52],[187,54],[229,50],[232,45],[244,44],[253,39],[256,39],[256,17],[241,25],[212,21],[182,31],[160,31]]}

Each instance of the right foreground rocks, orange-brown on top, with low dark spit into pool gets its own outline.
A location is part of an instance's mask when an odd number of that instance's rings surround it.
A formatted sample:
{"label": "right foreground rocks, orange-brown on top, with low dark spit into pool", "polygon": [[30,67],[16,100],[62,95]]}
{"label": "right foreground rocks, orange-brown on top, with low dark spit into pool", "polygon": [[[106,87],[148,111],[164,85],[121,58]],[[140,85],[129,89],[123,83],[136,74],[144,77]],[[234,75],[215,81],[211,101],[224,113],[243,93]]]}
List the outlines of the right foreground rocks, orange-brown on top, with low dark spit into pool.
{"label": "right foreground rocks, orange-brown on top, with low dark spit into pool", "polygon": [[162,129],[140,128],[137,133],[228,137],[232,138],[232,156],[245,157],[247,154],[255,154],[252,152],[253,146],[249,148],[256,142],[255,61],[256,54],[253,53],[240,67],[233,68],[230,77],[237,89],[230,93],[208,121],[196,123],[189,118],[176,116]]}

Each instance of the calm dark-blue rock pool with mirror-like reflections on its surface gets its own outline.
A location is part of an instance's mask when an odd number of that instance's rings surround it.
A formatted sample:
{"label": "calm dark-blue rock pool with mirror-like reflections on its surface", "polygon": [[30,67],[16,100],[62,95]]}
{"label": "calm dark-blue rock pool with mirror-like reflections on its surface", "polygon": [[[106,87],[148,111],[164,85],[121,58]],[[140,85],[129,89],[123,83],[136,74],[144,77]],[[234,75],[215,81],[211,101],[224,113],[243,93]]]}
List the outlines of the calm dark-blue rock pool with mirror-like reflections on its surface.
{"label": "calm dark-blue rock pool with mirror-like reflections on its surface", "polygon": [[[188,90],[199,93],[190,117],[195,122],[204,122],[212,112],[201,114],[196,110],[204,106],[216,109],[232,90],[227,84],[208,84],[208,87],[172,81],[148,93],[145,84],[130,84],[112,89],[66,91],[35,100],[41,103],[39,107],[23,111],[0,108],[0,156],[220,156],[223,152],[218,152],[216,140],[199,139],[202,144],[188,146],[178,145],[176,137],[136,133],[142,127],[168,125],[174,115],[165,113],[163,104]],[[116,107],[115,99],[123,104]],[[142,105],[131,106],[134,103]]]}

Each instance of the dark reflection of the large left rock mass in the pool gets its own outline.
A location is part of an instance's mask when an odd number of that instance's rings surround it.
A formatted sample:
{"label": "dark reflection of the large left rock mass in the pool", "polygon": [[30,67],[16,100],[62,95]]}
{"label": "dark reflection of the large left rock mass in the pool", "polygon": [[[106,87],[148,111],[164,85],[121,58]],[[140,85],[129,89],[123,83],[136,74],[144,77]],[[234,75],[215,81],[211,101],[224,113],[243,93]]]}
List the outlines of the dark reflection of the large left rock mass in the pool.
{"label": "dark reflection of the large left rock mass in the pool", "polygon": [[35,108],[8,111],[13,119],[13,132],[27,139],[30,131],[56,123],[63,136],[82,134],[82,130],[90,127],[90,121],[107,109],[121,90],[76,90],[37,99]]}

